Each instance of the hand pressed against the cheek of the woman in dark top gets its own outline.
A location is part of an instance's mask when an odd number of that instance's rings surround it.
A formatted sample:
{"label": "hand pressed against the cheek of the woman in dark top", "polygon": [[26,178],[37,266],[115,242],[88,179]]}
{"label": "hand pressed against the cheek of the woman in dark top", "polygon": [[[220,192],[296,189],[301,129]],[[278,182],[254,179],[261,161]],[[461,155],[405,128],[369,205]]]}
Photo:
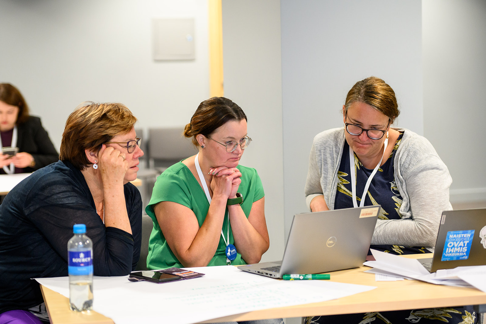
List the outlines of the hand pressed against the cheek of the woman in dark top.
{"label": "hand pressed against the cheek of the woman in dark top", "polygon": [[98,170],[101,173],[103,186],[110,187],[123,183],[126,171],[128,171],[128,162],[125,160],[126,153],[121,153],[111,146],[102,145],[98,152]]}

